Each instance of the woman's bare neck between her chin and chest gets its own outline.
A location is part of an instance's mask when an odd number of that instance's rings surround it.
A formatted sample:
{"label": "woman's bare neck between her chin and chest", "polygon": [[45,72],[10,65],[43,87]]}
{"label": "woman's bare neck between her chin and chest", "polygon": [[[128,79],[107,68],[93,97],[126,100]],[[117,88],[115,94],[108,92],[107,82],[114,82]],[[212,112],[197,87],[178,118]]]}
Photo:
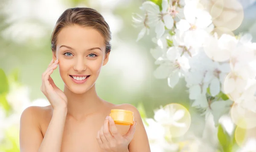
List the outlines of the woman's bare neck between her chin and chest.
{"label": "woman's bare neck between her chin and chest", "polygon": [[76,120],[82,119],[91,113],[96,112],[103,104],[102,99],[96,93],[95,84],[85,93],[76,94],[64,87],[67,96],[67,116]]}

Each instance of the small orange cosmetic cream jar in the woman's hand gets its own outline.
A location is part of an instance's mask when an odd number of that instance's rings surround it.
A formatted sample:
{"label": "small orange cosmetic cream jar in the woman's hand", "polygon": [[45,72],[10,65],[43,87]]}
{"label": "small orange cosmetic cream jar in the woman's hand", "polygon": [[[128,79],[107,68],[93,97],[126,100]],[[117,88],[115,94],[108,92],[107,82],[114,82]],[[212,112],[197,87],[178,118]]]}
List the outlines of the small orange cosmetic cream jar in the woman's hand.
{"label": "small orange cosmetic cream jar in the woman's hand", "polygon": [[133,125],[134,115],[132,111],[122,109],[112,109],[109,114],[114,120],[115,124],[120,125]]}

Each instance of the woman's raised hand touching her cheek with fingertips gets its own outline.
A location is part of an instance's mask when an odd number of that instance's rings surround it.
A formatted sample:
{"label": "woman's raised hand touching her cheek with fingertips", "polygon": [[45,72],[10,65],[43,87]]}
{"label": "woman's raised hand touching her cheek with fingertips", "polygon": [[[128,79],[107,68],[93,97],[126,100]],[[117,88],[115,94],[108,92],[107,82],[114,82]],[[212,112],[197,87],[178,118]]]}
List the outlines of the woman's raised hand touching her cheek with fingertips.
{"label": "woman's raised hand touching her cheek with fingertips", "polygon": [[53,70],[57,68],[58,59],[55,62],[52,61],[48,65],[48,68],[42,74],[42,85],[41,91],[47,97],[48,101],[52,105],[53,109],[63,109],[67,108],[67,96],[64,94],[62,90],[60,90],[51,78],[51,74]]}

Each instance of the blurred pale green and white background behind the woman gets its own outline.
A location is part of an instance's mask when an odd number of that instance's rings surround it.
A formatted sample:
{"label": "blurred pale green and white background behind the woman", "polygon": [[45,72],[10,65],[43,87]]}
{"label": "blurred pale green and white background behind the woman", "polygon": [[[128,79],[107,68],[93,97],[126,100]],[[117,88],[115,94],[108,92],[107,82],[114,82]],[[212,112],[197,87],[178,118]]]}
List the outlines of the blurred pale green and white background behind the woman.
{"label": "blurred pale green and white background behind the woman", "polygon": [[[180,103],[189,109],[190,102],[183,79],[172,89],[166,79],[153,76],[157,65],[154,65],[155,59],[149,50],[156,47],[151,41],[154,30],[148,37],[136,42],[140,29],[132,26],[131,16],[140,13],[139,7],[144,1],[0,0],[0,107],[5,109],[7,115],[17,113],[9,119],[0,114],[0,130],[1,127],[6,128],[8,123],[18,125],[24,107],[22,102],[46,99],[40,86],[41,74],[52,59],[50,35],[58,17],[70,7],[95,8],[111,27],[110,60],[102,68],[96,82],[96,90],[102,99],[114,104],[130,103],[138,108],[143,105],[147,117],[153,117],[154,109],[160,105],[170,103]],[[161,0],[153,1],[161,3]],[[255,41],[256,16],[252,14],[255,14],[256,5],[252,0],[244,0],[242,4],[244,21],[235,34],[250,32]],[[64,84],[58,70],[54,71],[52,79],[63,90]],[[26,89],[24,93],[12,93],[19,100],[11,103],[6,95],[17,86],[26,86]],[[13,108],[15,104],[17,107]],[[191,129],[200,135],[204,117],[195,110],[189,110],[192,115]],[[18,128],[7,128],[7,131],[0,131],[0,152],[18,152]]]}

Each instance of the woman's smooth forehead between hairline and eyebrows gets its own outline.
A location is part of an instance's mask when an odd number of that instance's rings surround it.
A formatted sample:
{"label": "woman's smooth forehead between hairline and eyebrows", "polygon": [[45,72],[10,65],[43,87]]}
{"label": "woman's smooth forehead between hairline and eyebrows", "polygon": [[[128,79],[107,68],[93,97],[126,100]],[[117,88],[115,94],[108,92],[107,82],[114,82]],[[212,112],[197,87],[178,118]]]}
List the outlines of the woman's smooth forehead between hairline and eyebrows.
{"label": "woman's smooth forehead between hairline and eyebrows", "polygon": [[57,37],[57,48],[61,45],[68,45],[72,48],[105,48],[102,35],[91,27],[73,25],[62,28]]}

